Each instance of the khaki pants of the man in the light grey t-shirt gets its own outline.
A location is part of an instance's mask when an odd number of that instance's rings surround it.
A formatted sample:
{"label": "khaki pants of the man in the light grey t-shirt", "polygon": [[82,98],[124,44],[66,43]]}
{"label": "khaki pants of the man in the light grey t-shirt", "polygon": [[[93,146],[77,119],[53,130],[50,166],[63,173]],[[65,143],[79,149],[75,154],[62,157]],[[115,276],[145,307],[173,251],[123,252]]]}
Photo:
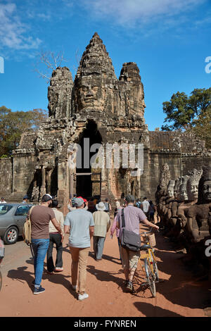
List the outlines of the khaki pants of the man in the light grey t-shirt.
{"label": "khaki pants of the man in the light grey t-shirt", "polygon": [[84,294],[87,282],[87,259],[89,255],[89,247],[84,249],[70,247],[70,253],[72,256],[72,285],[77,285],[77,271],[79,269],[79,294]]}

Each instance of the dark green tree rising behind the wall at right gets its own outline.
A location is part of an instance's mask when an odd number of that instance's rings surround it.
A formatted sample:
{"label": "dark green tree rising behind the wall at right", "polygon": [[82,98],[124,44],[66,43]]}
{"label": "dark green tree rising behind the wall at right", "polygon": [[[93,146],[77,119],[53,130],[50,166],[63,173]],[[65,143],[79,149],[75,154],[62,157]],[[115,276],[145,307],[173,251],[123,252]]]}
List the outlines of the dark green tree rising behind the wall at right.
{"label": "dark green tree rising behind the wall at right", "polygon": [[190,96],[184,92],[172,95],[170,101],[163,102],[166,114],[161,130],[188,130],[205,139],[206,146],[211,148],[211,87],[194,89]]}

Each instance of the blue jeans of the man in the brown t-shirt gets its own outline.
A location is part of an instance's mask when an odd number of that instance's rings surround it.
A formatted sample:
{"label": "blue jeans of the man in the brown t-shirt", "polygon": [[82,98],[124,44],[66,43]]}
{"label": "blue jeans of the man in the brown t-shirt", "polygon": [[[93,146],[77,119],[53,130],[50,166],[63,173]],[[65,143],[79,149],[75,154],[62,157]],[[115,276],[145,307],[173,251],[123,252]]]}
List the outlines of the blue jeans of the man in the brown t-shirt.
{"label": "blue jeans of the man in the brown t-shirt", "polygon": [[40,287],[41,277],[44,269],[44,259],[49,247],[49,239],[32,239],[32,249],[34,251],[34,286]]}

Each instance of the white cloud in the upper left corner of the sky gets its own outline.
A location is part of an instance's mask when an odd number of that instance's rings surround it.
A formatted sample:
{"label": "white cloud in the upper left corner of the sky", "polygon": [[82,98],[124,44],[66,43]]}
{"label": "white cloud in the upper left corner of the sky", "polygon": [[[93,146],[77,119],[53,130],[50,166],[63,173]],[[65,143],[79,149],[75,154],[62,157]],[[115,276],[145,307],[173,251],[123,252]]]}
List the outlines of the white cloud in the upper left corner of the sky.
{"label": "white cloud in the upper left corner of the sky", "polygon": [[1,4],[0,21],[1,49],[29,50],[41,44],[41,39],[29,35],[30,28],[21,22],[15,4]]}

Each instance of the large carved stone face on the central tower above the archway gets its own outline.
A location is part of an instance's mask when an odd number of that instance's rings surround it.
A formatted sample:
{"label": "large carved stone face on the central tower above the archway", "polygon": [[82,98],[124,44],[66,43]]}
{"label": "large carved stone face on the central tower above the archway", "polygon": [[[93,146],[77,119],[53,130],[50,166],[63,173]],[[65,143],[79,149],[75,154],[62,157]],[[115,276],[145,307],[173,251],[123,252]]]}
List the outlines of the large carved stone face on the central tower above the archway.
{"label": "large carved stone face on the central tower above the archway", "polygon": [[82,77],[77,88],[79,111],[84,108],[103,110],[104,96],[102,82],[96,77]]}

